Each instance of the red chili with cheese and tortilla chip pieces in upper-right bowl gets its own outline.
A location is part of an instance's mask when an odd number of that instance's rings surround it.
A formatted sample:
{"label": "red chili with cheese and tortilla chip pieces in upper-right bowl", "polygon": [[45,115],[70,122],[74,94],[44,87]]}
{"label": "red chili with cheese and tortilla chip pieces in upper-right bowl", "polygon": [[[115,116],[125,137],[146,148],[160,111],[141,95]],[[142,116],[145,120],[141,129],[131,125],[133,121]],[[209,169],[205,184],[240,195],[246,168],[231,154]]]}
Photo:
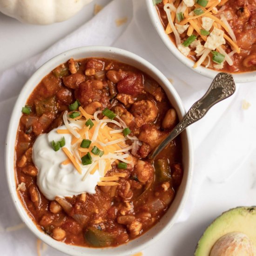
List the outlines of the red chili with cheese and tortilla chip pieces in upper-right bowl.
{"label": "red chili with cheese and tortilla chip pieces in upper-right bowl", "polygon": [[229,73],[256,71],[256,0],[153,0],[179,51]]}

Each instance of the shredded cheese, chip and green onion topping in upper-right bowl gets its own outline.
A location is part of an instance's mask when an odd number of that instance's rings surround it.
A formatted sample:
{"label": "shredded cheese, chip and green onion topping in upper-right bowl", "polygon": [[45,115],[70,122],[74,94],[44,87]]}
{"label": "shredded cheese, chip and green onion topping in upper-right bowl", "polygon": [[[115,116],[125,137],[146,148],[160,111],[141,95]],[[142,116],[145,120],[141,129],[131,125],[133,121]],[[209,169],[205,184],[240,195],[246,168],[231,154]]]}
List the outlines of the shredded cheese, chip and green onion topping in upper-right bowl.
{"label": "shredded cheese, chip and green onion topping in upper-right bowl", "polygon": [[[200,65],[215,67],[213,65],[215,63],[222,63],[223,67],[224,61],[227,61],[227,64],[232,66],[233,54],[239,54],[241,51],[236,43],[236,35],[224,14],[220,14],[221,19],[215,15],[218,13],[216,7],[224,5],[227,1],[209,0],[205,3],[206,6],[201,6],[196,1],[193,5],[193,2],[189,0],[177,0],[175,3],[172,0],[163,1],[163,9],[168,18],[165,33],[174,34],[176,46],[185,56],[193,56],[194,59],[200,56],[199,59],[197,58],[194,68]],[[176,28],[179,33],[177,33]],[[185,38],[183,33],[186,33]],[[194,40],[199,41],[200,44],[202,43],[201,47],[190,47]],[[232,56],[229,56],[226,52],[227,47],[223,48],[222,45],[229,45],[231,50],[235,51]],[[209,49],[214,52],[209,51]],[[224,55],[223,59],[219,57],[222,55]]]}

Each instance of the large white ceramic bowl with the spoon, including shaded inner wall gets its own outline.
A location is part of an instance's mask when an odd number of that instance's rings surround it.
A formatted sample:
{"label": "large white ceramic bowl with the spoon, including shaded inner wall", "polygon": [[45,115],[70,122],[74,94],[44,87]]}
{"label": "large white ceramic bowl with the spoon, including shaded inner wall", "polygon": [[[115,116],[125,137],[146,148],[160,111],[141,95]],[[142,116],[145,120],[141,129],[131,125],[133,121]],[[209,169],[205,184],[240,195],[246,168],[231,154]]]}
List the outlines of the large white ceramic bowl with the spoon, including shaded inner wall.
{"label": "large white ceramic bowl with the spoon, including shaded inner wall", "polygon": [[27,227],[43,242],[48,245],[58,249],[64,253],[74,255],[74,256],[125,256],[132,255],[135,252],[141,251],[145,247],[152,244],[154,241],[160,238],[174,223],[177,216],[180,214],[181,209],[183,208],[185,199],[188,195],[189,184],[191,182],[192,175],[192,164],[193,164],[193,151],[191,146],[191,139],[189,131],[186,130],[182,133],[182,148],[183,148],[183,167],[184,175],[182,179],[182,184],[177,192],[175,200],[172,202],[172,205],[168,209],[167,213],[162,217],[159,223],[157,223],[152,229],[139,238],[121,245],[119,247],[112,247],[106,249],[92,249],[86,247],[79,247],[68,245],[62,242],[58,242],[41,232],[35,226],[32,219],[28,216],[27,211],[24,209],[22,203],[16,192],[16,178],[13,167],[14,164],[14,148],[16,143],[16,134],[18,125],[20,122],[21,108],[25,105],[28,96],[32,93],[34,88],[38,85],[41,79],[50,73],[55,67],[59,66],[61,63],[66,62],[70,58],[82,59],[88,57],[104,57],[109,59],[114,59],[121,61],[127,64],[130,64],[134,67],[139,68],[141,71],[147,73],[152,78],[157,81],[162,88],[165,90],[168,98],[174,108],[177,111],[179,119],[185,114],[185,110],[182,105],[182,101],[167,80],[167,78],[153,65],[148,61],[145,61],[141,57],[132,54],[130,52],[112,48],[112,47],[80,47],[73,50],[62,53],[50,61],[47,61],[43,66],[41,66],[27,81],[23,89],[20,92],[19,98],[16,101],[16,104],[13,108],[13,113],[9,123],[7,141],[6,141],[6,174],[9,190],[14,202],[14,205],[22,219],[22,221],[27,225]]}

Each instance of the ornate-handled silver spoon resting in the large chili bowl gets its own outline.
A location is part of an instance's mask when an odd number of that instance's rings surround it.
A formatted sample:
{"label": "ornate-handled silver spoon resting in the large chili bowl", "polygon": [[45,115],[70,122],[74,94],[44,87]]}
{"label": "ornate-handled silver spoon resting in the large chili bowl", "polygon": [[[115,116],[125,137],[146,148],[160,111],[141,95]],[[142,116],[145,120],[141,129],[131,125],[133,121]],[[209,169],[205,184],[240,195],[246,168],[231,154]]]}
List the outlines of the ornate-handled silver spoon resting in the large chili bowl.
{"label": "ornate-handled silver spoon resting in the large chili bowl", "polygon": [[185,130],[190,124],[200,120],[208,110],[216,103],[228,98],[236,91],[236,85],[231,74],[219,73],[212,81],[206,94],[189,109],[175,128],[170,132],[167,138],[155,148],[148,156],[149,159],[154,159],[176,136]]}

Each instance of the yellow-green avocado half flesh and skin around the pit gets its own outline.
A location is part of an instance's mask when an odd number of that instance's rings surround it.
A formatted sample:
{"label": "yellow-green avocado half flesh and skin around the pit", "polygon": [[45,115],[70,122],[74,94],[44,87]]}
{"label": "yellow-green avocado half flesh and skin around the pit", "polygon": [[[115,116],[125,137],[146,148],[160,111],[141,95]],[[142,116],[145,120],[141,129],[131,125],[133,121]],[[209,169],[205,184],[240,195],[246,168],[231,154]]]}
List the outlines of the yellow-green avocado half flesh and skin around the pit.
{"label": "yellow-green avocado half flesh and skin around the pit", "polygon": [[231,232],[248,236],[256,253],[256,206],[237,207],[222,213],[203,233],[197,243],[195,256],[209,256],[214,244]]}

